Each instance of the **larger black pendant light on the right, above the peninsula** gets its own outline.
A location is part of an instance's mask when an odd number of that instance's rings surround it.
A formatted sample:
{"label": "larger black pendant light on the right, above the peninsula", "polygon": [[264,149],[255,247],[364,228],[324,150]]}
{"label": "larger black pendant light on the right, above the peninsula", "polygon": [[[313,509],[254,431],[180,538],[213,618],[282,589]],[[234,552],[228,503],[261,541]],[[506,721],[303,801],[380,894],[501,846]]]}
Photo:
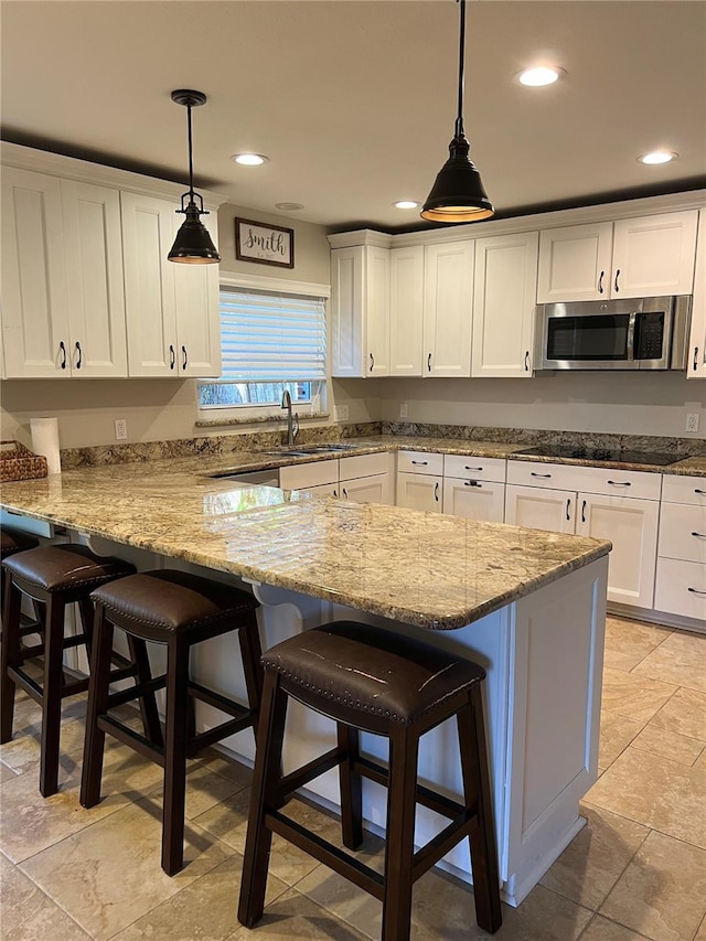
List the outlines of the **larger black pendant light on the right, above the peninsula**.
{"label": "larger black pendant light on the right, above the peninsula", "polygon": [[421,217],[432,222],[478,222],[495,214],[481,174],[469,159],[470,145],[463,133],[463,53],[466,46],[466,0],[461,4],[459,42],[459,110],[449,159],[443,164],[427,197]]}

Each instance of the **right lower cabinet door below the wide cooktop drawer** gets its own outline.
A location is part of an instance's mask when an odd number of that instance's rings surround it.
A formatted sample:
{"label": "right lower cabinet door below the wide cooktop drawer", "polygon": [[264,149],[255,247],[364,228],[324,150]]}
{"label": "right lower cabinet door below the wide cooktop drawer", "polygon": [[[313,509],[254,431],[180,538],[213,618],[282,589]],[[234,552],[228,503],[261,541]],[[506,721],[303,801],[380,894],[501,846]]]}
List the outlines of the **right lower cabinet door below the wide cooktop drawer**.
{"label": "right lower cabinet door below the wide cooktop drawer", "polygon": [[576,532],[610,539],[608,600],[652,608],[660,504],[633,496],[578,494]]}

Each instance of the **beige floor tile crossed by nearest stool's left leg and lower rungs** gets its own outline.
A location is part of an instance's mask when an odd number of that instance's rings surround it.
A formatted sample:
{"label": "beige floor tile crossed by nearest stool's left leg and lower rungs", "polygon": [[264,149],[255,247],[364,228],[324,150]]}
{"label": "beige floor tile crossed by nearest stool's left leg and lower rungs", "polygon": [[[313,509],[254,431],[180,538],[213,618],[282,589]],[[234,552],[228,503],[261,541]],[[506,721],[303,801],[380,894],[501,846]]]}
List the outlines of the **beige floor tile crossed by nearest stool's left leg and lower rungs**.
{"label": "beige floor tile crossed by nearest stool's left leg and lower rungs", "polygon": [[[244,853],[249,804],[250,790],[247,788],[195,817],[195,823],[213,833],[218,840],[223,840],[238,853]],[[307,830],[318,833],[332,843],[339,843],[341,827],[333,816],[299,800],[287,804],[286,813]],[[280,836],[272,837],[270,873],[288,886],[297,885],[317,865],[317,860],[312,859],[308,853],[303,853]]]}

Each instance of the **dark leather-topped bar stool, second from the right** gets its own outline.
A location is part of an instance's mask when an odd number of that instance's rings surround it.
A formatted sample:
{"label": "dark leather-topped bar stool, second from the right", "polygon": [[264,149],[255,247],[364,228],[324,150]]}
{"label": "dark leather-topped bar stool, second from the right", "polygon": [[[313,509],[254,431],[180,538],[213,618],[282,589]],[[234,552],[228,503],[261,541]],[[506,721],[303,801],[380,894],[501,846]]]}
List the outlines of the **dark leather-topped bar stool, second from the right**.
{"label": "dark leather-topped bar stool, second from the right", "polygon": [[[122,578],[94,591],[92,598],[96,603],[95,644],[81,803],[92,808],[100,800],[106,733],[160,764],[164,769],[162,869],[173,876],[183,866],[186,759],[242,729],[254,729],[257,723],[261,691],[261,651],[255,611],[258,602],[252,595],[229,585],[170,570]],[[163,644],[167,648],[167,672],[125,693],[110,695],[108,662],[116,627],[128,637]],[[189,676],[191,649],[229,631],[238,631],[247,707],[192,682]],[[109,715],[116,705],[164,686],[163,748],[136,735]],[[207,703],[233,718],[196,735],[194,699]]]}

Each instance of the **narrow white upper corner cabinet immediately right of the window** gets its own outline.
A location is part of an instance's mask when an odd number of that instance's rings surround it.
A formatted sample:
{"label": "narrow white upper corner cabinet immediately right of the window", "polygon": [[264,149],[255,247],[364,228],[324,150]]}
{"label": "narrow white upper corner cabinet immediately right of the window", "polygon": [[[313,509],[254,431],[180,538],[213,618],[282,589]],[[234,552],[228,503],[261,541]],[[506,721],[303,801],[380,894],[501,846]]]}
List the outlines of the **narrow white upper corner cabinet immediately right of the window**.
{"label": "narrow white upper corner cabinet immediately right of the window", "polygon": [[389,250],[355,245],[331,252],[331,374],[389,375]]}

